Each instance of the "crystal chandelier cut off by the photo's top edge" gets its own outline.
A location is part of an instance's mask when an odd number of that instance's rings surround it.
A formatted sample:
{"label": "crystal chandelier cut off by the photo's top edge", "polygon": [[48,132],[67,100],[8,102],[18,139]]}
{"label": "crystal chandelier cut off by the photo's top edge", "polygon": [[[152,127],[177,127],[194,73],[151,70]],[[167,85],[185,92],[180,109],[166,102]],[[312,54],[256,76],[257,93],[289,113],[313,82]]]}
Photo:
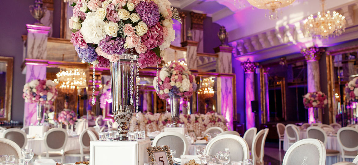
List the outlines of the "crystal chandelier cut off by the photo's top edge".
{"label": "crystal chandelier cut off by the photo's top edge", "polygon": [[269,18],[277,19],[277,9],[291,5],[295,0],[247,0],[258,9],[270,10]]}

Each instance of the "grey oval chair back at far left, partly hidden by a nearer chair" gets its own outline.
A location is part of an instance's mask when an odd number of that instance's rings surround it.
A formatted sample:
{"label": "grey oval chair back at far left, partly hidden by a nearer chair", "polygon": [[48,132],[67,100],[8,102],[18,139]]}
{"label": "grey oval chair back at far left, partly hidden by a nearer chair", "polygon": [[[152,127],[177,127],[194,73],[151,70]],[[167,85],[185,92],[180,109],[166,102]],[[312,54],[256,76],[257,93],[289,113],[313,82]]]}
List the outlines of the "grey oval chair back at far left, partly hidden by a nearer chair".
{"label": "grey oval chair back at far left, partly hidden by a nearer chair", "polygon": [[20,146],[21,150],[24,149],[27,144],[26,133],[17,128],[6,129],[3,134],[3,137],[5,139],[14,141],[16,144]]}

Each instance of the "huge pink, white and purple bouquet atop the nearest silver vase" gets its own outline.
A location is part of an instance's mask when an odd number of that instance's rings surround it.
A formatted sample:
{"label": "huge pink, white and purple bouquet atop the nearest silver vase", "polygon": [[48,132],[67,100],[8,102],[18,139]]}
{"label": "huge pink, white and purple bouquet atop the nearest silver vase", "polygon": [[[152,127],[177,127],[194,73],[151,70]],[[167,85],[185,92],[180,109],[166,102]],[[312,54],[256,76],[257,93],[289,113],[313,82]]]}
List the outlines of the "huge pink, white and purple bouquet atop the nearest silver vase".
{"label": "huge pink, white and purple bouquet atop the nearest silver vase", "polygon": [[139,54],[139,67],[158,65],[175,39],[179,12],[168,0],[81,0],[69,19],[71,43],[84,61],[107,67],[126,50]]}

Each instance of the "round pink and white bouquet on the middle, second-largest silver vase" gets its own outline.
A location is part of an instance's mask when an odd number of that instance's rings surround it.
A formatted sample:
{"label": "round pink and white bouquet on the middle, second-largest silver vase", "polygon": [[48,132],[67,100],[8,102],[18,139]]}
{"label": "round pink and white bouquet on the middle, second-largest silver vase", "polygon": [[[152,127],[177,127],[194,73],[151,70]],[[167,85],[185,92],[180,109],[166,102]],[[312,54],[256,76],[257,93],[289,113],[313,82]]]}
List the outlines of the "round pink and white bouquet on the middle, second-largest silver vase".
{"label": "round pink and white bouquet on the middle, second-largest silver vase", "polygon": [[[184,61],[169,61],[165,64],[159,72],[158,83],[158,96],[164,100],[173,95],[190,97],[197,89],[195,75],[190,72]],[[157,77],[154,77],[153,86],[157,86]]]}

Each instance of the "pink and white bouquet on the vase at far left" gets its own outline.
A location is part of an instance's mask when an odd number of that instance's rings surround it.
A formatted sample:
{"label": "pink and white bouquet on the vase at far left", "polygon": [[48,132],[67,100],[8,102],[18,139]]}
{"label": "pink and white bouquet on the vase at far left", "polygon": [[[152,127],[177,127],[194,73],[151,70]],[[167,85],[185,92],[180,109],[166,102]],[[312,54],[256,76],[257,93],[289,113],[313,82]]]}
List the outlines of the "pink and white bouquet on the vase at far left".
{"label": "pink and white bouquet on the vase at far left", "polygon": [[35,79],[24,85],[25,102],[51,105],[57,97],[56,84],[52,80]]}

